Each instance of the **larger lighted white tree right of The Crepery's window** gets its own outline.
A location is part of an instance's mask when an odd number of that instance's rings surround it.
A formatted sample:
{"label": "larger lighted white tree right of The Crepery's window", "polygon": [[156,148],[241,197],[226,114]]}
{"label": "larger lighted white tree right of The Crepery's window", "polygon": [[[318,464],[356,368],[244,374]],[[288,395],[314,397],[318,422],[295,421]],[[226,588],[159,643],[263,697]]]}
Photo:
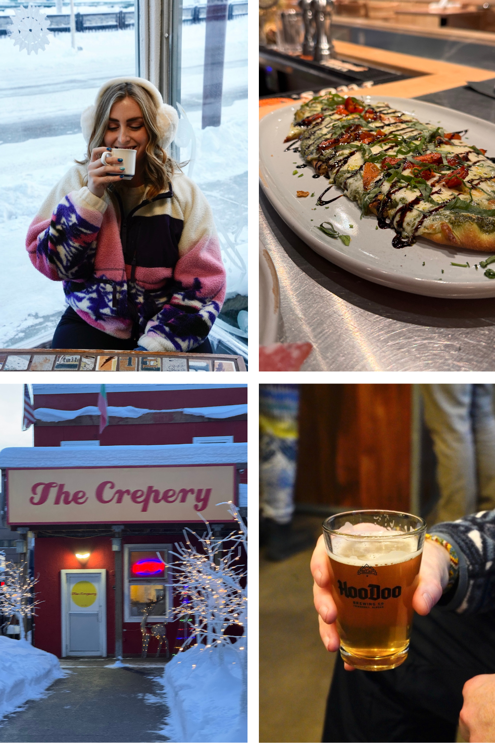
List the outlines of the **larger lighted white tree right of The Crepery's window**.
{"label": "larger lighted white tree right of The Crepery's window", "polygon": [[[171,585],[180,603],[170,609],[170,614],[189,624],[191,631],[180,651],[196,640],[206,648],[217,646],[221,661],[223,646],[231,644],[231,638],[237,640],[235,648],[240,653],[242,669],[240,712],[247,714],[247,585],[246,571],[240,565],[243,550],[247,554],[247,528],[237,507],[232,502],[228,505],[238,531],[217,539],[209,522],[203,519],[206,533],[199,536],[186,528],[186,544],[176,543],[176,551],[171,552],[177,560],[168,568],[173,572]],[[194,544],[190,539],[193,535]],[[241,637],[229,635],[233,625],[243,627]]]}

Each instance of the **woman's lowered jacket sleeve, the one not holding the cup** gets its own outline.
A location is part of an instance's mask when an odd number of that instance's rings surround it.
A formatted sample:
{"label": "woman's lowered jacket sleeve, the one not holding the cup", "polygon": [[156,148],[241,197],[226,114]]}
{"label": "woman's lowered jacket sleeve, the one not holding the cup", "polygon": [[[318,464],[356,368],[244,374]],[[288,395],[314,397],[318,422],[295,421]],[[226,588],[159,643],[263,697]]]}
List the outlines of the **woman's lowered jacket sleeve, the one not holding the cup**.
{"label": "woman's lowered jacket sleeve, the one not holding the cup", "polygon": [[174,198],[183,213],[179,259],[170,299],[140,337],[139,345],[148,351],[189,351],[200,345],[225,298],[226,272],[206,197],[180,174],[174,176]]}

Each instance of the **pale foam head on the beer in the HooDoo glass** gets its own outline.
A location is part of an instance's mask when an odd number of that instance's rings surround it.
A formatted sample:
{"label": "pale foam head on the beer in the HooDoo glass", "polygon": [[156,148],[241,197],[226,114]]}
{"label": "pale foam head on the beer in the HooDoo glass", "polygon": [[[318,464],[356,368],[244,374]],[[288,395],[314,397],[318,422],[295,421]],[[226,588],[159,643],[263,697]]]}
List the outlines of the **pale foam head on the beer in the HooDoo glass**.
{"label": "pale foam head on the beer in the HooDoo glass", "polygon": [[[363,562],[367,565],[394,565],[419,554],[418,536],[406,536],[405,531],[365,522],[347,522],[335,531],[342,536],[332,534],[332,551],[327,546],[327,554],[348,565],[362,565]],[[356,536],[364,539],[356,539]],[[366,539],[367,536],[371,539]]]}

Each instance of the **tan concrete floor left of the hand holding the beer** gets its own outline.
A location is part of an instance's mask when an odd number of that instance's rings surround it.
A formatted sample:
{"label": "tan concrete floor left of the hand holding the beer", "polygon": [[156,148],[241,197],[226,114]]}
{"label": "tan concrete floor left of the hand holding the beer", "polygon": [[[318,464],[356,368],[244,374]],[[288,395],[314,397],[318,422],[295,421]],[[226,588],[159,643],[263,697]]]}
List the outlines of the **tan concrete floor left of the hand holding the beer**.
{"label": "tan concrete floor left of the hand holding the beer", "polygon": [[[299,517],[321,533],[323,519]],[[260,556],[260,743],[318,743],[335,653],[318,633],[306,550],[283,562]]]}

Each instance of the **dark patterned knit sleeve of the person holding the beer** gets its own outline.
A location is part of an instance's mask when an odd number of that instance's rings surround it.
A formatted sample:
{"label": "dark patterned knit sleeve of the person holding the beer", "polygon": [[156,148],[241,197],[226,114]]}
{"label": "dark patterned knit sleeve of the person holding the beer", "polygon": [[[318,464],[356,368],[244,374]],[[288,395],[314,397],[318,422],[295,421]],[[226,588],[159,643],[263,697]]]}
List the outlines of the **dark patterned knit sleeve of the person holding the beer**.
{"label": "dark patterned knit sleeve of the person holding the beer", "polygon": [[436,524],[430,533],[447,539],[459,555],[459,580],[438,606],[459,614],[495,609],[495,510]]}

